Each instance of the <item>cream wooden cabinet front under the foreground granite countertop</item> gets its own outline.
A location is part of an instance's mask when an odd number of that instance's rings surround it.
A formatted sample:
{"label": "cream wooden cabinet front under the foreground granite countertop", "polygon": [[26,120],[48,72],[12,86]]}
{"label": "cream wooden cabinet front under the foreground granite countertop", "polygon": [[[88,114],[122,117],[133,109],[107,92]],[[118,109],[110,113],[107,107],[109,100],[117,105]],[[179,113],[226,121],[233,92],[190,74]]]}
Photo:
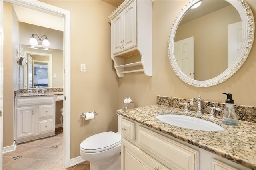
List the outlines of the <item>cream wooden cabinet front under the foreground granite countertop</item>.
{"label": "cream wooden cabinet front under the foreground granite countertop", "polygon": [[125,117],[122,117],[121,130],[122,170],[249,170]]}

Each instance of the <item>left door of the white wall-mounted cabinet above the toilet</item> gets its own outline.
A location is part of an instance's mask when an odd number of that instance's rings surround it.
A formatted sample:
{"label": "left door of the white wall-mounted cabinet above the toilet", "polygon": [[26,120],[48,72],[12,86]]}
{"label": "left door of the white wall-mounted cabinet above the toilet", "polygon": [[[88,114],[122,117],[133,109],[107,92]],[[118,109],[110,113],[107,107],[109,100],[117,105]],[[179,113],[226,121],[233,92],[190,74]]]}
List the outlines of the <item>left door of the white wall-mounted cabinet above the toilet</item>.
{"label": "left door of the white wall-mounted cabinet above the toilet", "polygon": [[119,53],[122,51],[122,13],[118,14],[112,22],[112,52],[113,54]]}

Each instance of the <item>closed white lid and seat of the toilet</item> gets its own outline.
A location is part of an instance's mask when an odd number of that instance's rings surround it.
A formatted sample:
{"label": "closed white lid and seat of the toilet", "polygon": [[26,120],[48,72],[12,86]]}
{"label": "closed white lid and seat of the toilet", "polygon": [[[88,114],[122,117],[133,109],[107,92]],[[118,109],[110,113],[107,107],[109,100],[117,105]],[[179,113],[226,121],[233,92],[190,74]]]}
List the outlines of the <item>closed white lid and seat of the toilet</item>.
{"label": "closed white lid and seat of the toilet", "polygon": [[86,152],[100,152],[121,144],[121,136],[114,132],[103,132],[86,138],[80,148]]}

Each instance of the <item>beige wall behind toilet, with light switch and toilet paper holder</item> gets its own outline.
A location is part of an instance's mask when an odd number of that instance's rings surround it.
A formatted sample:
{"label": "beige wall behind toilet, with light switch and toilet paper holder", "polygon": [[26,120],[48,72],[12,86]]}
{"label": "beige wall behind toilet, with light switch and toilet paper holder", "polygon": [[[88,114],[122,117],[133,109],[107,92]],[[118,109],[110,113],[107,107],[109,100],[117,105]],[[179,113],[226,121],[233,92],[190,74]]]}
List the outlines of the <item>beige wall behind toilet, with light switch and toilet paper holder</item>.
{"label": "beige wall behind toilet, with light switch and toilet paper holder", "polygon": [[[118,78],[110,59],[110,15],[116,7],[100,0],[43,1],[71,15],[71,153],[80,156],[80,143],[93,134],[117,131]],[[80,72],[80,64],[86,72]],[[80,113],[96,111],[90,121]]]}

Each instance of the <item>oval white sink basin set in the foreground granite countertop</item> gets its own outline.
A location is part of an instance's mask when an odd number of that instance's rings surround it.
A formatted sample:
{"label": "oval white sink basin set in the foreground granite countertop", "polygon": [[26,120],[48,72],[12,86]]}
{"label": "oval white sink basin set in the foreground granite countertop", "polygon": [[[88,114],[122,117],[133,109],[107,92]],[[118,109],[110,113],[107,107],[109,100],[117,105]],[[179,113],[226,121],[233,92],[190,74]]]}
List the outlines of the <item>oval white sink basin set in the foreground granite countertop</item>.
{"label": "oval white sink basin set in the foreground granite countertop", "polygon": [[164,114],[156,116],[157,119],[174,125],[177,127],[189,128],[194,130],[203,131],[219,131],[224,130],[224,128],[211,121],[206,121],[197,117],[186,116],[186,115],[175,115],[175,114]]}

